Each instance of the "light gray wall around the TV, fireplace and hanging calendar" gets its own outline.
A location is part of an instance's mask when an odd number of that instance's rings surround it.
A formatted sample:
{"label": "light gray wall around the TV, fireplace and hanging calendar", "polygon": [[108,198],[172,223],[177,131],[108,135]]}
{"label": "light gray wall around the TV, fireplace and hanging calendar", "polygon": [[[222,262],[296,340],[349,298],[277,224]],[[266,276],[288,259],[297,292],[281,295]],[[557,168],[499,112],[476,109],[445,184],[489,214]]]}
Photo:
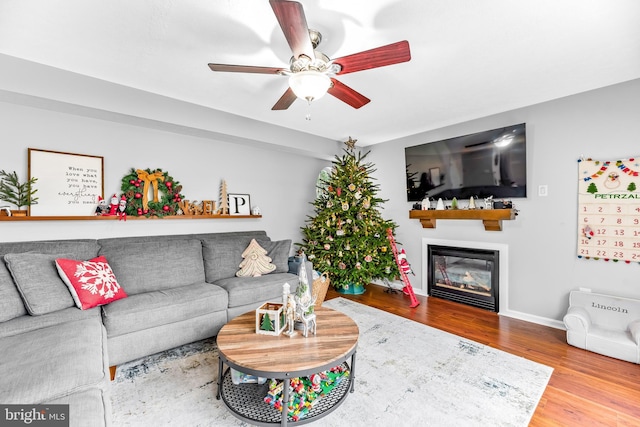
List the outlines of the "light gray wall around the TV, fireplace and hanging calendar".
{"label": "light gray wall around the TV, fireplace and hanging calendar", "polygon": [[[610,86],[527,108],[508,111],[372,147],[385,217],[399,224],[398,241],[407,251],[418,292],[422,280],[423,237],[495,242],[509,247],[510,314],[559,325],[568,293],[577,287],[594,292],[640,298],[640,265],[578,259],[577,160],[616,160],[640,156],[640,80]],[[404,147],[526,122],[526,199],[515,199],[515,221],[504,221],[501,232],[484,231],[480,221],[437,221],[423,229],[408,218],[412,203],[405,198]],[[538,186],[549,196],[539,197]],[[556,322],[553,322],[556,320]]]}

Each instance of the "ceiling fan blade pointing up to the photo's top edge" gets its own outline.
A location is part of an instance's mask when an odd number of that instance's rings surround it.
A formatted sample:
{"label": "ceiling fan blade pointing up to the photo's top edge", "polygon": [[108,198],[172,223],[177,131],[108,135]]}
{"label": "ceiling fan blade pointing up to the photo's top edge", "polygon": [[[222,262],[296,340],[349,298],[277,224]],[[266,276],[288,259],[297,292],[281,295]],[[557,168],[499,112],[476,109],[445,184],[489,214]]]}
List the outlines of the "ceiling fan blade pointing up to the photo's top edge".
{"label": "ceiling fan blade pointing up to the photo's top edge", "polygon": [[293,52],[293,57],[297,59],[300,55],[306,55],[314,59],[315,54],[302,4],[285,0],[269,0],[269,3]]}

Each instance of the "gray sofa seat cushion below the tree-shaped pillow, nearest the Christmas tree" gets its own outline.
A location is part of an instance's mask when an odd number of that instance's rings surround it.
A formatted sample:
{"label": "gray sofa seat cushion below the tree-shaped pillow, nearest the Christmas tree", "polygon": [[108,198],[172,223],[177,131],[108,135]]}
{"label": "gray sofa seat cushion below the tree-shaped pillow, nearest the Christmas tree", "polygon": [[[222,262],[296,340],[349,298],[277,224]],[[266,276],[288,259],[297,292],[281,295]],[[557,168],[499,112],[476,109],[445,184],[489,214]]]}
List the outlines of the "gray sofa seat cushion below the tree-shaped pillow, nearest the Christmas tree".
{"label": "gray sofa seat cushion below the tree-shaped pillow, nearest the Christmas tree", "polygon": [[282,285],[289,283],[291,292],[298,286],[298,276],[289,273],[271,273],[260,277],[231,277],[216,280],[215,284],[229,294],[229,307],[282,300]]}

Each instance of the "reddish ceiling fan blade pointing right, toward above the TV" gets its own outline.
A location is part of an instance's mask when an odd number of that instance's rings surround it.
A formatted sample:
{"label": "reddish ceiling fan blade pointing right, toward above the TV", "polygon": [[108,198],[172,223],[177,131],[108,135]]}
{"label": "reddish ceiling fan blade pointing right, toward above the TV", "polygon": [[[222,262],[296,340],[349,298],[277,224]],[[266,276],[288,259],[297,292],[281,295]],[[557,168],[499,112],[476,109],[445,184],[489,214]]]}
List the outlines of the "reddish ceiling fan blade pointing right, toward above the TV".
{"label": "reddish ceiling fan blade pointing right, toward above the TV", "polygon": [[354,53],[353,55],[343,56],[342,58],[334,59],[333,63],[342,67],[338,74],[348,74],[407,62],[410,59],[409,42],[403,40],[375,49],[365,50],[364,52]]}

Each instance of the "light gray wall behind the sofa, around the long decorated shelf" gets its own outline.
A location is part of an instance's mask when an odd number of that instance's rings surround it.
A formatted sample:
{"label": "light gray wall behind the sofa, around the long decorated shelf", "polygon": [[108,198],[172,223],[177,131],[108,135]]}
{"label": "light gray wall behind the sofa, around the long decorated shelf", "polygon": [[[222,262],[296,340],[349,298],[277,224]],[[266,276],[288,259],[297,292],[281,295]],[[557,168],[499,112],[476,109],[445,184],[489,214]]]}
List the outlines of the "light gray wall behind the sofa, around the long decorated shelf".
{"label": "light gray wall behind the sofa, around the long decorated shelf", "polygon": [[[297,241],[311,211],[315,179],[327,161],[0,102],[0,169],[27,177],[27,148],[104,157],[105,194],[120,194],[131,168],[161,168],[184,187],[189,200],[219,200],[226,180],[232,193],[248,193],[261,219],[0,222],[0,240],[100,238],[267,230]],[[1,203],[0,203],[1,204]]]}

